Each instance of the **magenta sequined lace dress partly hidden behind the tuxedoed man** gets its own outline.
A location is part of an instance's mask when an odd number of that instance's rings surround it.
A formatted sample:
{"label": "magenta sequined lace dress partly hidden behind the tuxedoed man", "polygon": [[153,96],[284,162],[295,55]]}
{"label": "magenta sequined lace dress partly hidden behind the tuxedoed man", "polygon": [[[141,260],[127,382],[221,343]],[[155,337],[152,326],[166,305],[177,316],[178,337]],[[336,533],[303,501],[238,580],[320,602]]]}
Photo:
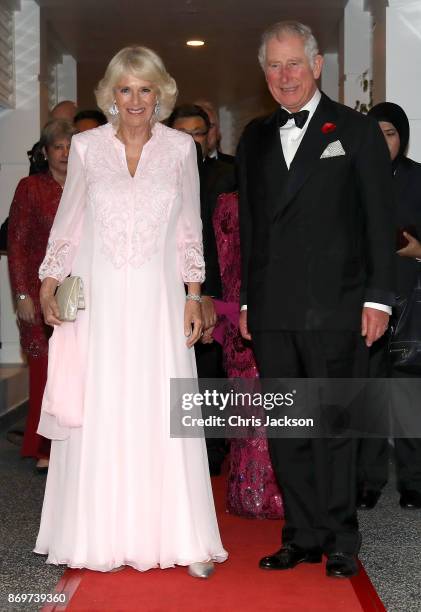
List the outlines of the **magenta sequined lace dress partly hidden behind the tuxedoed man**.
{"label": "magenta sequined lace dress partly hidden behind the tuxedoed man", "polygon": [[[238,329],[241,284],[238,196],[222,194],[213,215],[222,293],[225,306],[232,305],[237,321],[225,317],[222,340],[224,366],[229,378],[255,378],[259,375],[249,343]],[[248,518],[282,518],[282,497],[273,473],[264,428],[255,437],[231,440],[227,510]]]}

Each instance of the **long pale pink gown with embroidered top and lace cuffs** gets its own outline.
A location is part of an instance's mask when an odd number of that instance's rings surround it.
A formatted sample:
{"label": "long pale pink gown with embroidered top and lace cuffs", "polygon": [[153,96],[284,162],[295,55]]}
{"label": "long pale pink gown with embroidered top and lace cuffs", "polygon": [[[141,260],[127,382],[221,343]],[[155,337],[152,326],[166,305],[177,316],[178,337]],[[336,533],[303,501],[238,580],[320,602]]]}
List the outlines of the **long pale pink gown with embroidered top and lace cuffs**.
{"label": "long pale pink gown with embroidered top and lace cuffs", "polygon": [[184,282],[204,278],[190,136],[156,123],[134,177],[112,125],[74,137],[40,277],[69,273],[86,308],[50,340],[35,552],[99,571],[224,561],[204,440],[169,426],[170,378],[196,377]]}

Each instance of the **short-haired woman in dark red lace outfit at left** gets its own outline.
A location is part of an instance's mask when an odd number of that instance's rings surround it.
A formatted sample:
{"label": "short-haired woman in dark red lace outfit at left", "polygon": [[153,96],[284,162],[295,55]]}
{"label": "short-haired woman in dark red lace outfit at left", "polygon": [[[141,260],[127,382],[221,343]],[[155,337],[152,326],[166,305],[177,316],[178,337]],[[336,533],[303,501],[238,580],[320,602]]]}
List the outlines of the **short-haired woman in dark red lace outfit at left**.
{"label": "short-haired woman in dark red lace outfit at left", "polygon": [[21,455],[37,459],[40,472],[48,468],[50,441],[36,431],[47,377],[48,339],[40,303],[38,269],[44,259],[48,236],[60,202],[67,174],[67,159],[74,127],[56,119],[41,134],[48,170],[22,179],[10,208],[8,259],[22,350],[29,366],[29,412]]}

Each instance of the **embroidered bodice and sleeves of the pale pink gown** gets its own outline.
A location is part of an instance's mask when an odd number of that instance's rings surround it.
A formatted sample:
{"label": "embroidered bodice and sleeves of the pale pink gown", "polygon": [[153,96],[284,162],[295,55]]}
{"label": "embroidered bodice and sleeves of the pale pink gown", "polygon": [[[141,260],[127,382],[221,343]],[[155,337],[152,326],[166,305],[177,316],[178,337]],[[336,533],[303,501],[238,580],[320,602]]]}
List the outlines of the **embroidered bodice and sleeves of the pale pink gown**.
{"label": "embroidered bodice and sleeves of the pale pink gown", "polygon": [[100,251],[115,268],[139,268],[162,247],[178,209],[177,250],[185,282],[203,282],[196,151],[185,134],[155,124],[134,177],[125,148],[107,124],[74,137],[63,198],[40,278],[62,281],[71,271],[88,210]]}

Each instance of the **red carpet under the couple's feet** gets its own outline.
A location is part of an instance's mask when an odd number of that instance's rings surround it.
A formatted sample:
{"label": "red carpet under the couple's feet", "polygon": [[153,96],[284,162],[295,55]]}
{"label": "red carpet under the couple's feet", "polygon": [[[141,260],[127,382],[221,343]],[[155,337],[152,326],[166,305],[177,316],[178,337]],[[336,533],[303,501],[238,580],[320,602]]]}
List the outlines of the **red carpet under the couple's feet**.
{"label": "red carpet under the couple's feet", "polygon": [[383,612],[385,608],[363,568],[357,578],[326,578],[325,563],[294,570],[259,570],[260,557],[276,550],[279,521],[253,521],[224,511],[224,477],[213,479],[222,541],[230,554],[209,580],[188,576],[185,568],[126,568],[115,574],[66,570],[56,592],[67,605],[42,612]]}

